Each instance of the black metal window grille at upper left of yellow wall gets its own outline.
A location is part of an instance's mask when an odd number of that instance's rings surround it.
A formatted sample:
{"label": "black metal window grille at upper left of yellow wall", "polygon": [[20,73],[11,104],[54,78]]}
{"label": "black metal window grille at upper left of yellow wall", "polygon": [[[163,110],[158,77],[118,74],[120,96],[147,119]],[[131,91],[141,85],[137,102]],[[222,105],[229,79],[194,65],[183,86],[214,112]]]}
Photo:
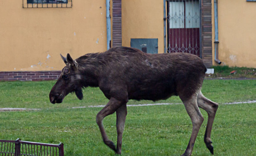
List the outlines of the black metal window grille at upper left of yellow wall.
{"label": "black metal window grille at upper left of yellow wall", "polygon": [[22,0],[23,8],[71,8],[72,0]]}

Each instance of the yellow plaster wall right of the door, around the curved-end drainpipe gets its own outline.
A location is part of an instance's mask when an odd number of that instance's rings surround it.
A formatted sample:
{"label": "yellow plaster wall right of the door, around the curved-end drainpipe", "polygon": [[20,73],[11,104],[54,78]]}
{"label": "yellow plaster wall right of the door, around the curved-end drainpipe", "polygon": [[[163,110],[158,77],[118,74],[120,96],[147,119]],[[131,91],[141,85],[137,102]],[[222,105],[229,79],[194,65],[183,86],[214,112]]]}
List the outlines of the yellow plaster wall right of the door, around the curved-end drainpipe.
{"label": "yellow plaster wall right of the door, around the curved-end drainpipe", "polygon": [[[212,11],[212,15],[214,17],[214,11]],[[218,0],[218,25],[220,42],[219,60],[223,62],[223,65],[255,68],[256,2]]]}

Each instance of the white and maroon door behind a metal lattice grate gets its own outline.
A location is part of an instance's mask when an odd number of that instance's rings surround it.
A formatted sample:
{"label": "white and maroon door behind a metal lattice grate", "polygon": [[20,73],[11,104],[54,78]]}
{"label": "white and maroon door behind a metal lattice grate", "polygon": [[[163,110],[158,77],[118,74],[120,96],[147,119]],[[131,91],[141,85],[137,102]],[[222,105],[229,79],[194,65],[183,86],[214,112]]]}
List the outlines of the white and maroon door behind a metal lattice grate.
{"label": "white and maroon door behind a metal lattice grate", "polygon": [[168,1],[168,53],[191,53],[200,57],[199,0]]}

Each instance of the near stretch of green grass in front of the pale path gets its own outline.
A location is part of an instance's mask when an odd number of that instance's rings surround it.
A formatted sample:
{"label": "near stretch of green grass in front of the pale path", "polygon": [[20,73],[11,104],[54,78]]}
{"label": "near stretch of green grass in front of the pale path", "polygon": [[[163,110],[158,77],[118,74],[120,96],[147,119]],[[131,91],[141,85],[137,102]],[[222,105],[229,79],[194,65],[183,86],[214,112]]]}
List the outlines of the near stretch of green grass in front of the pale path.
{"label": "near stretch of green grass in front of the pale path", "polygon": [[[44,109],[1,112],[0,138],[64,143],[66,156],[113,156],[102,142],[95,116],[101,108]],[[201,110],[207,119],[206,112]],[[256,105],[220,105],[213,125],[216,156],[251,156],[256,153]],[[204,145],[204,121],[193,155],[210,156]],[[116,142],[115,115],[104,119],[111,140]],[[192,124],[183,105],[128,107],[123,134],[123,156],[178,156],[187,147]]]}

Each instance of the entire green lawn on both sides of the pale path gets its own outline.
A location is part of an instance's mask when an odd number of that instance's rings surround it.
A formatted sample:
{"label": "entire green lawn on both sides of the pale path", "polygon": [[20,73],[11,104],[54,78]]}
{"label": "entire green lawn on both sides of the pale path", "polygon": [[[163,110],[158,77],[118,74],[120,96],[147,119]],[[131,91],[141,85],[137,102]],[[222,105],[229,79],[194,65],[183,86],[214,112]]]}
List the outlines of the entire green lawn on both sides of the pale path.
{"label": "entire green lawn on both sides of the pale path", "polygon": [[[0,112],[0,139],[59,144],[66,156],[113,156],[102,142],[96,124],[107,99],[98,88],[83,90],[79,101],[69,94],[61,104],[51,104],[49,92],[55,81],[0,82],[0,108],[40,108],[38,111]],[[203,94],[220,103],[212,130],[215,156],[252,156],[256,153],[256,103],[223,103],[256,100],[256,80],[205,80]],[[129,101],[128,104],[154,103]],[[178,97],[155,103],[181,103]],[[207,113],[192,155],[211,156],[204,145]],[[103,121],[116,144],[116,116]],[[123,133],[123,156],[179,156],[185,151],[192,123],[183,105],[128,107]]]}

